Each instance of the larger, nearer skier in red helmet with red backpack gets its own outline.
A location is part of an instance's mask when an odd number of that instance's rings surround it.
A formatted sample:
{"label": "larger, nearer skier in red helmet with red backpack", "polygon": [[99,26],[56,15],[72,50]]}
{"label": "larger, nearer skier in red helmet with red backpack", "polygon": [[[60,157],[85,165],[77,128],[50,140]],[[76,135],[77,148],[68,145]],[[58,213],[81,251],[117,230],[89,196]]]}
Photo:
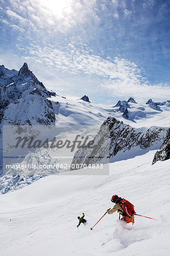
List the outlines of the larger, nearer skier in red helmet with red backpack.
{"label": "larger, nearer skier in red helmet with red backpack", "polygon": [[114,207],[111,210],[107,210],[107,213],[112,214],[116,211],[119,213],[119,219],[120,215],[123,217],[121,218],[122,221],[126,221],[127,223],[132,222],[134,224],[134,205],[131,204],[126,199],[122,199],[121,197],[118,197],[117,195],[113,195],[111,197],[111,202],[115,203]]}

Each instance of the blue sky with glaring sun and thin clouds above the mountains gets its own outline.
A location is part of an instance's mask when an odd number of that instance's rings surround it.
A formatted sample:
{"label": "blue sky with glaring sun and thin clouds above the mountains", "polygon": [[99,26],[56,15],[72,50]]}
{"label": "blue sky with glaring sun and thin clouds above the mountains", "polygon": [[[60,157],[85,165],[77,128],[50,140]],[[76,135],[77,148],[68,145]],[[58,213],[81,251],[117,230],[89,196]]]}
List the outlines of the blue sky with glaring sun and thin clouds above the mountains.
{"label": "blue sky with glaring sun and thin clouds above the mountains", "polygon": [[61,96],[170,100],[169,0],[0,0],[0,65]]}

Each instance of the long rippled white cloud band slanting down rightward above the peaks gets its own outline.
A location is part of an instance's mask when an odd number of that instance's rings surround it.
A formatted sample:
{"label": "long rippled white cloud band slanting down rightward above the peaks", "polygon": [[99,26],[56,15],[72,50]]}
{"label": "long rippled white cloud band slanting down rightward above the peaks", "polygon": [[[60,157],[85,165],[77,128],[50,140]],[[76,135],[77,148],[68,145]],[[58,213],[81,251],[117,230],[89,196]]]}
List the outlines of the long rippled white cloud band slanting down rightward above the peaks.
{"label": "long rippled white cloud band slanting down rightward above the peaks", "polygon": [[30,61],[41,60],[50,68],[57,72],[68,74],[86,74],[101,77],[102,88],[107,89],[110,95],[134,96],[141,98],[170,97],[168,86],[151,85],[141,75],[142,71],[138,66],[126,59],[115,57],[102,59],[94,55],[90,49],[76,48],[73,43],[68,44],[63,49],[55,49],[52,46],[43,48],[32,44],[27,48]]}

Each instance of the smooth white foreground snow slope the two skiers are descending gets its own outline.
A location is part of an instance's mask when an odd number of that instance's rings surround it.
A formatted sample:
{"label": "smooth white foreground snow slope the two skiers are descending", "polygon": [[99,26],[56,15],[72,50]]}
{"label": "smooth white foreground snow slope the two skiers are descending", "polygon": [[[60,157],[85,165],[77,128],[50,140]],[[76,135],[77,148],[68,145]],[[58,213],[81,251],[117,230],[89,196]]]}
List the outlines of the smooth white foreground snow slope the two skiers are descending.
{"label": "smooth white foreground snow slope the two skiers are descending", "polygon": [[[27,255],[169,255],[170,160],[151,166],[155,151],[110,163],[109,176],[51,175],[0,196],[0,254]],[[68,173],[67,173],[68,174]],[[113,207],[113,194],[135,205],[128,229]],[[88,224],[77,229],[82,212]],[[11,219],[11,221],[10,221]]]}

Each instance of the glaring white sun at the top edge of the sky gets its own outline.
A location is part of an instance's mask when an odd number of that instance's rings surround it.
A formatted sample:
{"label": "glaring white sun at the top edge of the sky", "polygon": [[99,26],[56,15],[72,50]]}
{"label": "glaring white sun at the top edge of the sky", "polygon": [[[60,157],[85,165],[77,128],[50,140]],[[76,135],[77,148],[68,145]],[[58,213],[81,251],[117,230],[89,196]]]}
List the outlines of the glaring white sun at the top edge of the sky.
{"label": "glaring white sun at the top edge of the sky", "polygon": [[72,0],[40,0],[45,9],[62,18],[65,15],[72,13]]}

